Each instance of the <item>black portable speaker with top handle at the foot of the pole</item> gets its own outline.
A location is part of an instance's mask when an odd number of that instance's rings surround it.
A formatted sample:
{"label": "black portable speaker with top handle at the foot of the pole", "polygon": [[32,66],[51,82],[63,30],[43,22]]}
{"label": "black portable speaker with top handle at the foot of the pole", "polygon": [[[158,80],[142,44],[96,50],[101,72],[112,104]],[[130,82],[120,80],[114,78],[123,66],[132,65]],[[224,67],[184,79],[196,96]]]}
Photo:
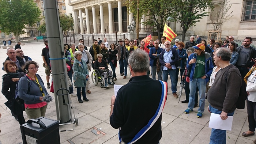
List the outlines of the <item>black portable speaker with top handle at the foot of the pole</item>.
{"label": "black portable speaker with top handle at the foot of the pole", "polygon": [[45,117],[20,126],[23,144],[60,144],[59,122]]}

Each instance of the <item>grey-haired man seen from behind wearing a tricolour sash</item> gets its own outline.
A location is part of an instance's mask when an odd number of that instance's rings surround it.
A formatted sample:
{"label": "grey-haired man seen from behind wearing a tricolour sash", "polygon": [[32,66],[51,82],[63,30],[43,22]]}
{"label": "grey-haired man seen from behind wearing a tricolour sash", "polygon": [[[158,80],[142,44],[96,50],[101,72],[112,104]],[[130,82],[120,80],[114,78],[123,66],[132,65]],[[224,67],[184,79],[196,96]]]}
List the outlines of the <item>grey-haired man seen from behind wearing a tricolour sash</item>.
{"label": "grey-haired man seen from behind wearing a tricolour sash", "polygon": [[134,50],[128,64],[132,78],[112,96],[110,125],[119,128],[120,144],[159,144],[167,83],[147,75],[149,57],[144,50]]}

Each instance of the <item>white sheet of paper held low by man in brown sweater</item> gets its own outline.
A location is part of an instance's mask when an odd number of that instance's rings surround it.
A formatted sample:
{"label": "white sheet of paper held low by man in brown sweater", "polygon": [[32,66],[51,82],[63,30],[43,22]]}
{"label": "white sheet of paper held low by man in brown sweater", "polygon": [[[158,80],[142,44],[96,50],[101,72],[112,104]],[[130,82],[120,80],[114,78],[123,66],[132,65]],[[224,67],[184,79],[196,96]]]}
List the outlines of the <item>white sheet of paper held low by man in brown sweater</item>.
{"label": "white sheet of paper held low by man in brown sweater", "polygon": [[221,120],[220,114],[211,113],[209,128],[231,130],[233,116],[227,116],[226,120]]}

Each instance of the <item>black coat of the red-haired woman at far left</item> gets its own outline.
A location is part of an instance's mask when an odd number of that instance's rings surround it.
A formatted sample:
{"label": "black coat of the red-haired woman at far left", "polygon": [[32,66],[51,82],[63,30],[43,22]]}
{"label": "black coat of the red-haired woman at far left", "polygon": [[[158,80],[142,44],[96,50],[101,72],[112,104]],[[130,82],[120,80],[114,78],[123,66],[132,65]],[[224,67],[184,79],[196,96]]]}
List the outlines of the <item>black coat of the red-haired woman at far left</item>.
{"label": "black coat of the red-haired woman at far left", "polygon": [[[19,77],[22,77],[25,75],[23,72],[18,72]],[[10,76],[5,76],[3,78],[3,84],[2,84],[2,94],[5,96],[5,98],[9,101],[15,96],[15,89],[16,89],[17,82],[13,82],[12,78]],[[10,90],[9,90],[10,88]]]}

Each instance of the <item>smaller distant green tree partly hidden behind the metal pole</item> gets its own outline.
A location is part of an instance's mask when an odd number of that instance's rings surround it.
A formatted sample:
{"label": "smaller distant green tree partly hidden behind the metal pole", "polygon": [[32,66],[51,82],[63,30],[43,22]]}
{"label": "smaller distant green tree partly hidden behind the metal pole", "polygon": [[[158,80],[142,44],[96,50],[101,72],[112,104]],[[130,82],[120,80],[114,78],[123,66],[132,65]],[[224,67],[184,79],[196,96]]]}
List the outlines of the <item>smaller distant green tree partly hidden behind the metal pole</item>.
{"label": "smaller distant green tree partly hidden behind the metal pole", "polygon": [[[68,30],[72,30],[74,27],[74,20],[72,16],[65,15],[65,14],[59,14],[60,16],[60,27],[62,28],[62,33],[66,34]],[[45,19],[43,24],[41,24],[38,28],[42,33],[46,33],[46,25],[45,25]]]}

